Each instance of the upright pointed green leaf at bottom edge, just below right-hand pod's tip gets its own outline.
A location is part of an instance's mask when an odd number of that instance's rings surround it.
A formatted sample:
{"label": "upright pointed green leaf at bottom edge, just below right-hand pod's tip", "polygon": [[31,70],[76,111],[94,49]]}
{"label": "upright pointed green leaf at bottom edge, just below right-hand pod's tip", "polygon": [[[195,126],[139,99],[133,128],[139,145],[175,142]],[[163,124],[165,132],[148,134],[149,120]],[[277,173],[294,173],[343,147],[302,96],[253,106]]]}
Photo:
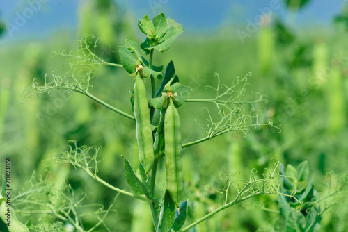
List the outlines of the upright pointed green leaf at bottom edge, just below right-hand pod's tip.
{"label": "upright pointed green leaf at bottom edge, just below right-hand pod's tip", "polygon": [[159,222],[156,232],[167,232],[171,229],[175,217],[175,203],[171,199],[168,190],[164,194],[163,205],[159,213]]}

